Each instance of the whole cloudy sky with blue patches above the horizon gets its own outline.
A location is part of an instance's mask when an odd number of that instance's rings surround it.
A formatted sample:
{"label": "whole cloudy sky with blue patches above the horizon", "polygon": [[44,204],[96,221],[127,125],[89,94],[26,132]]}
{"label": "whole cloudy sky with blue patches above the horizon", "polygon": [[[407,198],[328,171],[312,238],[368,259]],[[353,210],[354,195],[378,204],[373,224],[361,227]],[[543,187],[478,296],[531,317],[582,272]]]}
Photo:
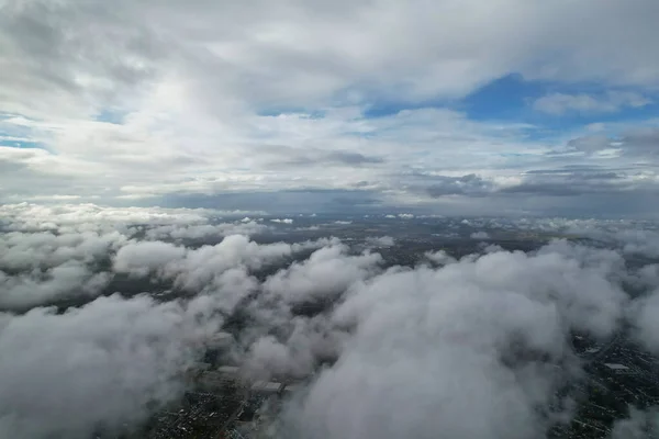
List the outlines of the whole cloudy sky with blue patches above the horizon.
{"label": "whole cloudy sky with blue patches above the horizon", "polygon": [[0,203],[656,217],[656,0],[0,0]]}

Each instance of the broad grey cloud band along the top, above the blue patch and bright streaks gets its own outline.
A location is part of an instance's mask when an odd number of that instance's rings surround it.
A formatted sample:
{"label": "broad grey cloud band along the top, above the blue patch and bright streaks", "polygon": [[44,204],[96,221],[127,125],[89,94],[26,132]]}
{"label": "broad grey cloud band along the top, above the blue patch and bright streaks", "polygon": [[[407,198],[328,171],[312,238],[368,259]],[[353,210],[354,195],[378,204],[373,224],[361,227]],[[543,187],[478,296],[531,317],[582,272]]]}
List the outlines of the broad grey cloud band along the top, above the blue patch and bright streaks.
{"label": "broad grey cloud band along the top, above the blue patch and bright streaks", "polygon": [[[615,1],[594,5],[589,1],[577,10],[560,3],[538,9],[521,2],[503,15],[499,14],[504,8],[495,5],[483,22],[478,13],[481,4],[471,2],[458,9],[380,1],[331,8],[298,1],[278,7],[252,1],[230,8],[208,1],[186,7],[170,1],[119,1],[112,7],[10,2],[1,25],[13,68],[7,69],[3,83],[42,94],[48,86],[56,91],[82,88],[83,95],[100,93],[110,100],[98,83],[105,80],[113,89],[122,85],[130,89],[167,66],[188,77],[196,85],[196,99],[210,108],[235,94],[256,106],[303,105],[356,86],[364,95],[384,92],[412,100],[460,95],[511,71],[529,78],[655,85],[657,66],[648,66],[654,3],[643,1],[633,10]],[[143,16],[149,20],[138,19]],[[437,27],[431,16],[442,18],[443,25]],[[503,32],[494,22],[514,32]],[[96,24],[93,32],[87,23]],[[618,23],[623,24],[614,25]],[[273,25],[297,37],[252,37]],[[479,25],[469,38],[455,40],[465,29]],[[563,32],[557,37],[559,25]],[[336,29],[342,30],[339,37]],[[485,50],[483,42],[494,42],[496,49]],[[202,43],[210,47],[202,49]],[[101,46],[111,49],[97,50]],[[628,46],[637,49],[619,49]],[[463,63],[455,61],[465,54]],[[543,54],[551,59],[538,60]],[[621,70],[621,65],[626,68]],[[79,71],[100,81],[79,83]],[[13,93],[12,98],[20,102]],[[621,93],[614,98],[636,102]]]}

